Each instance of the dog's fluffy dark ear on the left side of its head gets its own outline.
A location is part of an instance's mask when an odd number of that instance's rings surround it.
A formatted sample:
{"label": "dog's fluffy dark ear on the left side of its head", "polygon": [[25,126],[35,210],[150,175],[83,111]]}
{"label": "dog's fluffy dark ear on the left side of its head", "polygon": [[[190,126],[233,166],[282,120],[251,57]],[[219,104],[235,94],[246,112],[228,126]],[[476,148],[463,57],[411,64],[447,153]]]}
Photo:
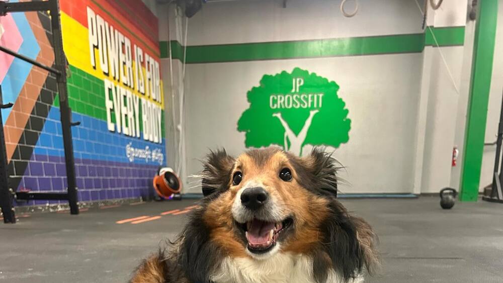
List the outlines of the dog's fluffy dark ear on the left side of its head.
{"label": "dog's fluffy dark ear on the left side of its head", "polygon": [[203,161],[201,187],[203,195],[210,196],[227,189],[235,159],[225,149],[211,151]]}

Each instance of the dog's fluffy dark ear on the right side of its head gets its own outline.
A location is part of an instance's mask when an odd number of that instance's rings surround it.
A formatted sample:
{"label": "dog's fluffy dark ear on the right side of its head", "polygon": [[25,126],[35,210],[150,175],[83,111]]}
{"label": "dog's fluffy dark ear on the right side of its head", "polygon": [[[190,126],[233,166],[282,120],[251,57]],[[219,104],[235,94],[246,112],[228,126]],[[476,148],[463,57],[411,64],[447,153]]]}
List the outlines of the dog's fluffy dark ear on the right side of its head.
{"label": "dog's fluffy dark ear on the right side of its head", "polygon": [[323,147],[314,147],[306,159],[317,193],[337,197],[337,170],[342,168],[339,162]]}

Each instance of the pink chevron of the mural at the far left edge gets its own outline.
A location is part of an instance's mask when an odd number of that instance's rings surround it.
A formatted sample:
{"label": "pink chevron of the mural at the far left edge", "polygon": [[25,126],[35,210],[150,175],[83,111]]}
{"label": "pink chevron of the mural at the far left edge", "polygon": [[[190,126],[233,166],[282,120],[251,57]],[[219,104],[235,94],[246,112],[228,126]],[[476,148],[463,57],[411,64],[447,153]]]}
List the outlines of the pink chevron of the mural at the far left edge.
{"label": "pink chevron of the mural at the far left edge", "polygon": [[[0,45],[17,52],[23,43],[23,37],[21,36],[12,15],[7,14],[7,16],[0,17],[0,25],[2,25],[4,29],[2,38],[0,38]],[[4,80],[12,61],[14,61],[13,56],[0,52],[0,82]]]}

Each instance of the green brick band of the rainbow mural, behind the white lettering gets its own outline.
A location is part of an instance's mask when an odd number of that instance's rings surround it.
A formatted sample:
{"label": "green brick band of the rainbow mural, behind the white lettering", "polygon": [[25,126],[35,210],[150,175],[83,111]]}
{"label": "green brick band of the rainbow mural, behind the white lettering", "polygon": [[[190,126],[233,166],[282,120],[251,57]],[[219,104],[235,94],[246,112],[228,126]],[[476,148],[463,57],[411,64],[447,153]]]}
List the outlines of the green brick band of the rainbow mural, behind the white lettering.
{"label": "green brick band of the rainbow mural, behind the white lettering", "polygon": [[[79,68],[71,65],[69,67],[71,76],[67,79],[66,85],[68,87],[68,106],[72,112],[107,121],[105,82]],[[54,100],[54,106],[59,107],[59,98]],[[161,134],[164,137],[164,110],[161,115]],[[112,122],[115,123],[115,115],[112,115]],[[140,123],[140,131],[143,132],[143,123]]]}

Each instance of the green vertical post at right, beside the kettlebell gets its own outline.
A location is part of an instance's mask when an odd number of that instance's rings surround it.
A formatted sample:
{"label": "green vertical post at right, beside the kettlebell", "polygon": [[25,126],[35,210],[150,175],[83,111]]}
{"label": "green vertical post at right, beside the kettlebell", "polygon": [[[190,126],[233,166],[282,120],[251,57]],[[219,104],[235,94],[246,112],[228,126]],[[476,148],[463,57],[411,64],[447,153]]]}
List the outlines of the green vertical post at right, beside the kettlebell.
{"label": "green vertical post at right, beside the kettlebell", "polygon": [[479,3],[466,115],[461,201],[477,201],[496,36],[497,0]]}

